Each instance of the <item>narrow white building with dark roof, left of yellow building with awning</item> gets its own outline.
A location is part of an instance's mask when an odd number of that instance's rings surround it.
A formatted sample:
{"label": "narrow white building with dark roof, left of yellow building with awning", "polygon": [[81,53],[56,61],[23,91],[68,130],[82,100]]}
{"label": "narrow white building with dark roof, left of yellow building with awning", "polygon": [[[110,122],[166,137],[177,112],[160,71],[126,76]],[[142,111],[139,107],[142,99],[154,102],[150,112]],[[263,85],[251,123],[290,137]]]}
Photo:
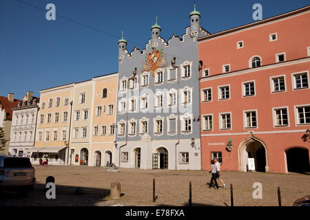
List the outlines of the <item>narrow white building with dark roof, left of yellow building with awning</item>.
{"label": "narrow white building with dark roof, left of yellow building with awning", "polygon": [[9,155],[30,157],[29,149],[34,146],[39,98],[32,91],[12,108]]}

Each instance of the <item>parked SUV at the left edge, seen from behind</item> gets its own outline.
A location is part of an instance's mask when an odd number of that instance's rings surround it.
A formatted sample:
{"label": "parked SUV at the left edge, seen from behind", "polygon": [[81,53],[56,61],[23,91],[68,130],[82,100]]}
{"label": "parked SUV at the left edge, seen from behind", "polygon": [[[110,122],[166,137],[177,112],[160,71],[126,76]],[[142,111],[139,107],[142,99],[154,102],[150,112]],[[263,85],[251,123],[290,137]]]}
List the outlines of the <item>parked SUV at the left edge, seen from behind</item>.
{"label": "parked SUV at the left edge, seen from behind", "polygon": [[36,182],[35,169],[27,157],[0,155],[0,189],[27,194]]}

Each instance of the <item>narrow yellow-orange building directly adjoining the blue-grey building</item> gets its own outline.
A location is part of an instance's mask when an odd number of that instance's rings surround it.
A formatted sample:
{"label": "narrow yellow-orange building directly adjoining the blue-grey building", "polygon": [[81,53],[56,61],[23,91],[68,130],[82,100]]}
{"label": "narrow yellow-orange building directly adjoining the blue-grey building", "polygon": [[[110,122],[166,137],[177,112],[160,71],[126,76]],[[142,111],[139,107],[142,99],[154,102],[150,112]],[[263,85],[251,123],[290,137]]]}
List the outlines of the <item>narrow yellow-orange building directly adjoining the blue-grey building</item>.
{"label": "narrow yellow-orange building directly adjoining the blue-grey building", "polygon": [[93,78],[92,144],[90,166],[114,162],[114,134],[118,74]]}

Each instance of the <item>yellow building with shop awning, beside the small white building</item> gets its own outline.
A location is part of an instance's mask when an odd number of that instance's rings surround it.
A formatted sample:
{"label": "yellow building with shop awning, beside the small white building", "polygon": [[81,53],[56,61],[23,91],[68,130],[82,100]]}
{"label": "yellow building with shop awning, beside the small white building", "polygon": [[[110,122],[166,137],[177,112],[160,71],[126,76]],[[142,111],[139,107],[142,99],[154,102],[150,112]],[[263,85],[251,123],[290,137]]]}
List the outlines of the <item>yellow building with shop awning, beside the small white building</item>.
{"label": "yellow building with shop awning, beside the small white building", "polygon": [[31,161],[48,157],[48,164],[68,164],[68,140],[72,112],[74,83],[61,85],[40,92],[40,107],[37,114],[37,129]]}

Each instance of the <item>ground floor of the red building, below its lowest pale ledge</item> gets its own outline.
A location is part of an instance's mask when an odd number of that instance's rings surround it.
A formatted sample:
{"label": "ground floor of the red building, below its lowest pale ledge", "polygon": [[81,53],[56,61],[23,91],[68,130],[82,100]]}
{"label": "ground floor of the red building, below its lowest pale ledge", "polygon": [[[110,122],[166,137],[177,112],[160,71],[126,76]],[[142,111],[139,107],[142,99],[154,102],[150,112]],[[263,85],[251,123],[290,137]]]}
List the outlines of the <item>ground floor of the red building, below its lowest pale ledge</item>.
{"label": "ground floor of the red building, below its lowest pale ledge", "polygon": [[300,137],[303,132],[244,133],[203,135],[202,169],[209,170],[210,161],[217,157],[222,170],[249,170],[249,158],[254,158],[259,172],[310,172],[309,142]]}

